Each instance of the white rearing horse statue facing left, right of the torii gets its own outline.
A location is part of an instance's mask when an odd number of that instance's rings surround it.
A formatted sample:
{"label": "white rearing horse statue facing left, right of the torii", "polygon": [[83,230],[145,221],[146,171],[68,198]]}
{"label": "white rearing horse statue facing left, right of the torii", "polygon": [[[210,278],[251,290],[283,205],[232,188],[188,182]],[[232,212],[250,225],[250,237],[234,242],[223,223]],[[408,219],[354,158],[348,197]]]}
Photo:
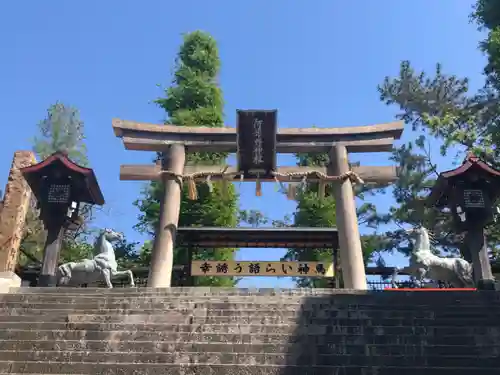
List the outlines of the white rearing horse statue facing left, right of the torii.
{"label": "white rearing horse statue facing left, right of the torii", "polygon": [[394,270],[393,287],[396,287],[396,276],[402,271],[407,272],[418,283],[419,287],[423,285],[424,279],[442,281],[455,288],[466,288],[474,285],[472,266],[469,262],[462,258],[441,258],[432,253],[427,229],[416,227],[406,232],[416,235],[415,246],[410,256],[410,265]]}

